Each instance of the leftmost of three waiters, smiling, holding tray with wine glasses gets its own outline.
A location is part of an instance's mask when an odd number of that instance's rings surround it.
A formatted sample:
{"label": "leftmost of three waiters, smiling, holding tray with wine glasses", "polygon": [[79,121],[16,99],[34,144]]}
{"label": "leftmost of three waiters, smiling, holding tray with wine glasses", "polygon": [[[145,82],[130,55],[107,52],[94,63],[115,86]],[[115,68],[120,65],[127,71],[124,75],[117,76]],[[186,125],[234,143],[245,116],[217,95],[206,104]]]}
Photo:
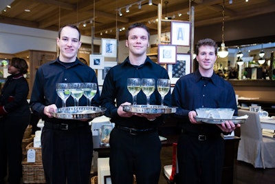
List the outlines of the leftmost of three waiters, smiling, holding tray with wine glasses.
{"label": "leftmost of three waiters, smiling, holding tray with wine glasses", "polygon": [[[76,57],[80,32],[75,25],[65,25],[58,32],[59,57],[39,67],[36,72],[30,106],[45,121],[41,134],[42,161],[47,183],[89,183],[93,139],[89,121],[56,119],[52,112],[62,107],[56,94],[56,83],[98,83],[96,73]],[[79,101],[86,106],[85,97]],[[99,105],[99,90],[91,101]],[[67,106],[74,106],[72,96]]]}

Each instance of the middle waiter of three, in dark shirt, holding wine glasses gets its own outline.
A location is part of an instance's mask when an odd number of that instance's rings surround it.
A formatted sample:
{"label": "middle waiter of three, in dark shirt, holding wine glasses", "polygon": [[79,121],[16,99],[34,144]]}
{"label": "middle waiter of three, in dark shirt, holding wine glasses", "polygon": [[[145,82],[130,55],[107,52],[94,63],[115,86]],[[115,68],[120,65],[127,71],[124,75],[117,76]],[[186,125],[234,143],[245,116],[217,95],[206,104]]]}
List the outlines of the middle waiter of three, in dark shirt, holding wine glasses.
{"label": "middle waiter of three, in dark shirt, holding wine glasses", "polygon": [[[129,57],[123,63],[109,70],[104,79],[100,103],[107,108],[105,116],[111,117],[115,127],[110,136],[110,171],[113,184],[137,183],[157,184],[161,170],[161,142],[157,127],[163,122],[160,114],[134,114],[124,112],[122,105],[133,101],[127,90],[128,78],[169,79],[162,66],[146,56],[149,46],[148,28],[142,23],[130,25],[126,31],[126,47]],[[151,105],[160,105],[161,96],[157,90],[151,94]],[[116,101],[116,103],[115,103]],[[137,104],[146,104],[143,92],[137,94]],[[170,105],[170,93],[165,96],[164,105]]]}

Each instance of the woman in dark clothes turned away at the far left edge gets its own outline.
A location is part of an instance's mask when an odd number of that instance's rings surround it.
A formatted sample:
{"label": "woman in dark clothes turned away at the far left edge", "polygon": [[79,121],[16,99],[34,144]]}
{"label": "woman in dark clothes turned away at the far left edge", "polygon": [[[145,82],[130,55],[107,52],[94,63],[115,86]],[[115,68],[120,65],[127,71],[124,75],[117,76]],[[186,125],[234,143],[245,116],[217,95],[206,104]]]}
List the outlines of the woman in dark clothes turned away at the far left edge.
{"label": "woman in dark clothes turned away at the far left edge", "polygon": [[8,79],[0,96],[0,184],[7,175],[10,184],[21,183],[22,139],[30,123],[30,107],[27,101],[28,81],[23,74],[28,72],[24,59],[14,57],[8,66]]}

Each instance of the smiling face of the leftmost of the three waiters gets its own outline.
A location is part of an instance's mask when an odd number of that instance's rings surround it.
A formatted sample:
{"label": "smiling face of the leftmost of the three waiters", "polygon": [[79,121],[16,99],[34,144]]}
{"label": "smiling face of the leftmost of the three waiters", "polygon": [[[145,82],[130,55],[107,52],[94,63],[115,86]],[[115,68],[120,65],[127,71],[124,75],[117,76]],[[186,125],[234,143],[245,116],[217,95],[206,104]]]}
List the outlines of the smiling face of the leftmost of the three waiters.
{"label": "smiling face of the leftmost of the three waiters", "polygon": [[76,61],[77,52],[81,45],[78,30],[65,26],[61,31],[60,38],[56,39],[56,43],[60,49],[59,59],[61,61],[66,63]]}

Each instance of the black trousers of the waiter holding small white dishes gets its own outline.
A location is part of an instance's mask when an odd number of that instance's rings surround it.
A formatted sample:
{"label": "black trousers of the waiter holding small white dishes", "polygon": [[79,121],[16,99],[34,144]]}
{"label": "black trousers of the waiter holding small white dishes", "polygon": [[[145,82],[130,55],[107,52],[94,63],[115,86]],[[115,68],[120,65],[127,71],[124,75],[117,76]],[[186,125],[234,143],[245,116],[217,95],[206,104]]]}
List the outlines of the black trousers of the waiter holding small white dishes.
{"label": "black trousers of the waiter holding small white dishes", "polygon": [[224,141],[221,136],[199,141],[199,136],[182,134],[177,143],[179,183],[220,184],[223,156]]}

